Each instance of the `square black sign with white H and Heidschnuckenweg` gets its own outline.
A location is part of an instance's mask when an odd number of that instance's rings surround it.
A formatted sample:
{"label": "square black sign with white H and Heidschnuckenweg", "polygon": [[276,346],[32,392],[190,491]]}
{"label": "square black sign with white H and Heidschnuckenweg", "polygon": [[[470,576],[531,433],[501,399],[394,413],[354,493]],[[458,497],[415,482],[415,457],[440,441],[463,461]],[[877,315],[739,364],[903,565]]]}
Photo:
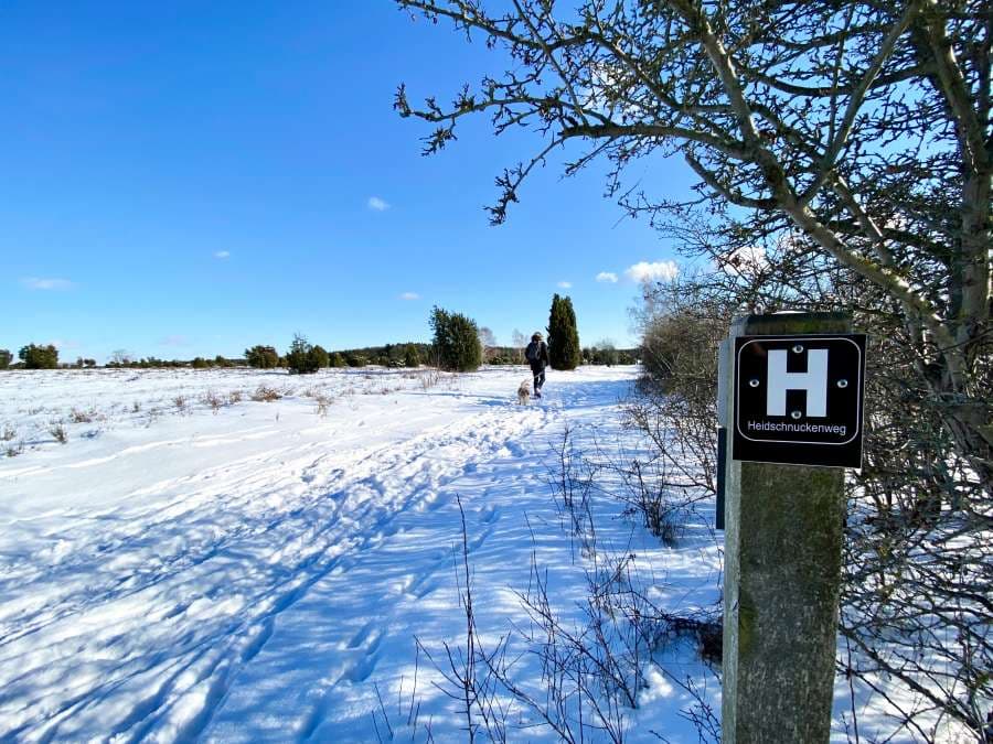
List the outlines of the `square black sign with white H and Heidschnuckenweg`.
{"label": "square black sign with white H and Heidschnuckenweg", "polygon": [[735,338],[734,460],[862,467],[865,335]]}

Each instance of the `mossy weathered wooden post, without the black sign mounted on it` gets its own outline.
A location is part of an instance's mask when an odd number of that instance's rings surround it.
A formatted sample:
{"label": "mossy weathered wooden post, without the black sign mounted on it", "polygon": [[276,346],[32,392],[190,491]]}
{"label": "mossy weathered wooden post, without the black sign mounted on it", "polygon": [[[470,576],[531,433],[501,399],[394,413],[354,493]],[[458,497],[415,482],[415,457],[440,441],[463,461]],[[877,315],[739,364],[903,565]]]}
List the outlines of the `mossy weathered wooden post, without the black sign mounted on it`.
{"label": "mossy weathered wooden post, without the black sign mounted on it", "polygon": [[[850,327],[844,315],[829,313],[750,315],[737,321],[722,347],[718,409],[725,431],[734,429],[736,336],[844,334]],[[758,387],[757,380],[751,382]],[[826,742],[844,470],[740,462],[734,460],[730,442],[727,453],[723,740]]]}

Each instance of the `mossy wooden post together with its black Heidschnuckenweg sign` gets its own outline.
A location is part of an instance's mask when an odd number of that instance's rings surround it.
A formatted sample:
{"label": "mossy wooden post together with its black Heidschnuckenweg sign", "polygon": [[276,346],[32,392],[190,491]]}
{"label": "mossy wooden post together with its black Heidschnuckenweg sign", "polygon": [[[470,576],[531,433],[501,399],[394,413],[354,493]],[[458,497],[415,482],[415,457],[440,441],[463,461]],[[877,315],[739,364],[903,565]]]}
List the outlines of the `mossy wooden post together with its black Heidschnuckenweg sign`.
{"label": "mossy wooden post together with its black Heidschnuckenweg sign", "polygon": [[724,742],[831,730],[844,504],[862,462],[865,336],[837,313],[738,320],[720,353]]}

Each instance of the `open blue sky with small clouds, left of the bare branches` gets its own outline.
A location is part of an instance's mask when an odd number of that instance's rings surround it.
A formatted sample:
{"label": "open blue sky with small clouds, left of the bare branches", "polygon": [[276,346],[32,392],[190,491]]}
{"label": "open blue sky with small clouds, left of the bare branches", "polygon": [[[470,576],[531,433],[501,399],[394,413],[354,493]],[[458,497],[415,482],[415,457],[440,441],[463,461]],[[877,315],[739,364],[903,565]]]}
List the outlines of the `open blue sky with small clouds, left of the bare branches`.
{"label": "open blue sky with small clouds, left of the bare branches", "polygon": [[[447,99],[501,62],[388,0],[3,3],[0,348],[427,341],[433,304],[510,343],[554,292],[584,344],[633,343],[626,271],[676,256],[602,197],[606,165],[551,163],[490,227],[494,176],[537,136],[479,119],[423,158],[427,126],[392,110],[401,82]],[[636,169],[660,195],[691,183],[677,162]]]}

